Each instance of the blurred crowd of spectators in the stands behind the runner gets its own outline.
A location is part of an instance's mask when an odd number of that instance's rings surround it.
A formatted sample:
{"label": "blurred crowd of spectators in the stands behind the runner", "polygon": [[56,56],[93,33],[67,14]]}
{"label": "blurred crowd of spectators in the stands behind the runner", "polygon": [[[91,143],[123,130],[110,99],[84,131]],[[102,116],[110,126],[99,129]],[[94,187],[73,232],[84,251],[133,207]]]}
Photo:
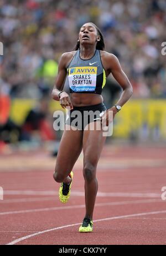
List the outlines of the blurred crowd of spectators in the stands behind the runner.
{"label": "blurred crowd of spectators in the stands behind the runner", "polygon": [[1,93],[49,95],[60,55],[74,49],[88,21],[100,27],[105,50],[119,58],[133,97],[166,96],[165,0],[1,0]]}

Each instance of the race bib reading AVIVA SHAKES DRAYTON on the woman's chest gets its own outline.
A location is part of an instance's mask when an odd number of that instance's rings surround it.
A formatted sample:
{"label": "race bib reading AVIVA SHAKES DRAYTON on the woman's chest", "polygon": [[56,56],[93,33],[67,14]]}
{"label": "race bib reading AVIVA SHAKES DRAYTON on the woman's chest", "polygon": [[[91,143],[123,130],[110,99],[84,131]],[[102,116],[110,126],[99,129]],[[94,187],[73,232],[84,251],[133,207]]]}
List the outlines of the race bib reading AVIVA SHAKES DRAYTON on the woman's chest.
{"label": "race bib reading AVIVA SHAKES DRAYTON on the woman's chest", "polygon": [[97,67],[69,68],[69,86],[74,92],[95,91]]}

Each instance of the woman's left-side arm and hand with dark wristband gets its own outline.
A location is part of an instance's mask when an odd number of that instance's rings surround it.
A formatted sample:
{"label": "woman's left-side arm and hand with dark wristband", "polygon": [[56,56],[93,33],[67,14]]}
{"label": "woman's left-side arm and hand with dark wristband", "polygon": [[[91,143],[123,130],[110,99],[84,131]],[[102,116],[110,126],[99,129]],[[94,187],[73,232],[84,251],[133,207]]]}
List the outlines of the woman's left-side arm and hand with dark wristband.
{"label": "woman's left-side arm and hand with dark wristband", "polygon": [[58,66],[58,75],[56,77],[55,85],[51,93],[51,96],[54,100],[60,101],[60,105],[61,107],[63,107],[63,109],[65,109],[66,106],[70,106],[71,109],[73,108],[68,93],[66,93],[65,91],[60,93],[60,91],[63,89],[64,81],[66,78],[66,63],[69,62],[70,58],[71,56],[68,52],[63,53],[63,55],[61,56]]}

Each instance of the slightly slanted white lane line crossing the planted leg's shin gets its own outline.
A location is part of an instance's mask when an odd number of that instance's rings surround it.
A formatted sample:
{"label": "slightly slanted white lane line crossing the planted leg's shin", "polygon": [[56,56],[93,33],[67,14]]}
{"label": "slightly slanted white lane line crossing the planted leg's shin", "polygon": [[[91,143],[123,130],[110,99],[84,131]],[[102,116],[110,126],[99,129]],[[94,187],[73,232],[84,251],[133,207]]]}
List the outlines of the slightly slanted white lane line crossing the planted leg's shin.
{"label": "slightly slanted white lane line crossing the planted leg's shin", "polygon": [[[106,206],[106,205],[125,205],[125,204],[141,204],[141,203],[155,203],[155,202],[162,202],[162,200],[157,199],[146,199],[146,200],[134,200],[134,201],[116,201],[116,202],[109,202],[109,203],[97,203],[95,206]],[[78,208],[85,208],[84,204],[80,205],[70,205],[70,206],[56,206],[56,207],[49,207],[49,208],[39,208],[39,209],[29,209],[29,210],[18,210],[18,211],[3,211],[0,212],[0,215],[7,215],[7,214],[19,214],[19,213],[37,213],[39,211],[53,211],[53,210],[65,210],[65,209],[78,209]]]}

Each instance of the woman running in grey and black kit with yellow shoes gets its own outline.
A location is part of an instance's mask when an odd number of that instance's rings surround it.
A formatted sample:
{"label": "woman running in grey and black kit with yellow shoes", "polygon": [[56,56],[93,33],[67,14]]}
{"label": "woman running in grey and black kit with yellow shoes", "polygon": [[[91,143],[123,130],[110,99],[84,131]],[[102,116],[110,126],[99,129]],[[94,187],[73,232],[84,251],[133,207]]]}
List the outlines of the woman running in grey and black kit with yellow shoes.
{"label": "woman running in grey and black kit with yellow shoes", "polygon": [[[52,97],[60,101],[61,107],[68,107],[65,129],[60,141],[56,159],[54,179],[61,183],[59,199],[66,203],[70,197],[72,184],[72,168],[82,149],[84,153],[83,175],[85,180],[85,218],[79,232],[92,232],[92,216],[94,212],[98,183],[96,168],[106,136],[102,129],[97,129],[101,121],[108,126],[109,112],[113,117],[132,96],[132,86],[123,72],[117,57],[105,52],[105,43],[100,29],[94,23],[85,23],[79,32],[75,51],[63,53],[59,62],[59,71],[53,88]],[[101,96],[106,77],[112,73],[123,88],[116,105],[106,109]],[[70,93],[63,91],[67,77]],[[79,111],[81,120],[74,122],[73,111]],[[98,114],[85,120],[84,113],[98,111]],[[103,112],[105,111],[105,112]],[[103,112],[101,116],[100,113]],[[83,117],[84,116],[84,117]],[[93,115],[92,115],[93,116]],[[80,122],[82,121],[82,122]],[[91,126],[94,129],[91,129]],[[76,129],[71,129],[75,127]]]}

